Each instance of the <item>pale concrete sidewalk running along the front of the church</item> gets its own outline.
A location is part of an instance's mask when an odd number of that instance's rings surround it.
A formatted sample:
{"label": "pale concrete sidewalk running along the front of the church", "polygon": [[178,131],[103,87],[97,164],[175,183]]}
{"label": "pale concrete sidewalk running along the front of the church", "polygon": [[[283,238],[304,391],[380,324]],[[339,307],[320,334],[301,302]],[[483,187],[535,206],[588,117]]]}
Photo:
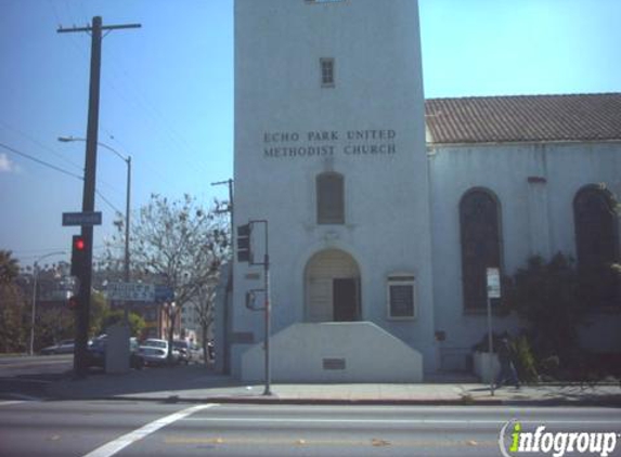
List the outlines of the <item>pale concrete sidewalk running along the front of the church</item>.
{"label": "pale concrete sidewalk running along the front of the church", "polygon": [[203,366],[132,370],[122,375],[92,374],[87,379],[69,376],[52,382],[53,400],[141,400],[167,402],[258,404],[384,404],[384,405],[600,405],[621,407],[619,384],[525,386],[502,388],[490,394],[481,383],[417,384],[244,384],[215,375]]}

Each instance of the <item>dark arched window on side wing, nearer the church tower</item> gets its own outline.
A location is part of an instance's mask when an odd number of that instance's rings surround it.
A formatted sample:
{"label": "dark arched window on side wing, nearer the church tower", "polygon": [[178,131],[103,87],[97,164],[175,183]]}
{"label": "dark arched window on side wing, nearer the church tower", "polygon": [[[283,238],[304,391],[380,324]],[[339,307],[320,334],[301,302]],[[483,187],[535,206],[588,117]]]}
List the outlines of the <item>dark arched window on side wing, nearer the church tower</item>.
{"label": "dark arched window on side wing, nearer the church tower", "polygon": [[501,266],[500,209],[483,190],[467,192],[460,203],[464,309],[487,306],[487,269]]}

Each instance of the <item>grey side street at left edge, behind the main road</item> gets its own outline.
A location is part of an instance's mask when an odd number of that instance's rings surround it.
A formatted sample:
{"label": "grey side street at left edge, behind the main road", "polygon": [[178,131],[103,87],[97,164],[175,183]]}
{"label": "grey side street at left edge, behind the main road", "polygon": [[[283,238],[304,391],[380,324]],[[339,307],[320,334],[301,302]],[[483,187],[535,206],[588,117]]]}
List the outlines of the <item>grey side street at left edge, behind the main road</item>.
{"label": "grey side street at left edge, behind the main road", "polygon": [[42,397],[46,384],[73,366],[73,354],[0,357],[0,399]]}

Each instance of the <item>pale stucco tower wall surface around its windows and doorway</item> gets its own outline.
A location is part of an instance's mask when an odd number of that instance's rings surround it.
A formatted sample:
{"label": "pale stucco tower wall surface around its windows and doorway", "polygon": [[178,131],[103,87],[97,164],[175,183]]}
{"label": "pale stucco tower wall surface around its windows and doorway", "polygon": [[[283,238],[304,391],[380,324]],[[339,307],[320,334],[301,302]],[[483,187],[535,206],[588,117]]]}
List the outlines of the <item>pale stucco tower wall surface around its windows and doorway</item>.
{"label": "pale stucco tower wall surface around its windows and doorway", "polygon": [[[321,87],[322,57],[335,60],[333,88]],[[305,318],[309,259],[338,248],[358,262],[362,318],[423,352],[425,369],[435,369],[423,108],[416,1],[235,2],[235,223],[269,220],[274,332]],[[353,131],[375,138],[348,139]],[[374,145],[385,154],[347,153]],[[283,157],[274,147],[323,149]],[[315,178],[324,171],[345,177],[344,225],[316,224]],[[255,270],[235,264],[233,332],[257,342],[261,315],[244,308],[245,290],[261,287],[247,279]],[[393,272],[416,275],[414,321],[386,318]],[[234,374],[247,348],[234,345]]]}

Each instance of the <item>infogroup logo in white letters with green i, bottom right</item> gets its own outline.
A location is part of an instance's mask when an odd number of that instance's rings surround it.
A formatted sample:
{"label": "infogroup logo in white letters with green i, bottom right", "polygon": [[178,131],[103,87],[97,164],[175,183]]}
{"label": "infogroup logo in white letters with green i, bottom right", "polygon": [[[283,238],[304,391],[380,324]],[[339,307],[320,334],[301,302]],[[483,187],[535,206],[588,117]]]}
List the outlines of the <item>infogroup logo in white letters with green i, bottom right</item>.
{"label": "infogroup logo in white letters with green i, bottom right", "polygon": [[501,429],[499,446],[504,457],[529,453],[607,457],[614,452],[620,438],[618,432],[548,432],[545,426],[525,431],[521,422],[513,420]]}

